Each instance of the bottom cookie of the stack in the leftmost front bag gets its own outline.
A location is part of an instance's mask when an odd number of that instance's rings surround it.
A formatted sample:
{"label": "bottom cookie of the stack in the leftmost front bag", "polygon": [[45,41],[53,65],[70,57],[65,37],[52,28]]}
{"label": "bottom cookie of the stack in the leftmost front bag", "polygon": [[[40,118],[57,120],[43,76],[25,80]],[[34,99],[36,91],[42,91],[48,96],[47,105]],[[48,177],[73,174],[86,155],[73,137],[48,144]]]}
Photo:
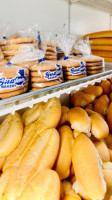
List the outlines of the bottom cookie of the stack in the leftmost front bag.
{"label": "bottom cookie of the stack in the leftmost front bag", "polygon": [[19,90],[13,91],[13,92],[0,93],[0,100],[10,98],[10,97],[14,97],[14,96],[17,96],[19,94],[25,93],[27,91],[27,89],[28,89],[28,85],[19,89]]}

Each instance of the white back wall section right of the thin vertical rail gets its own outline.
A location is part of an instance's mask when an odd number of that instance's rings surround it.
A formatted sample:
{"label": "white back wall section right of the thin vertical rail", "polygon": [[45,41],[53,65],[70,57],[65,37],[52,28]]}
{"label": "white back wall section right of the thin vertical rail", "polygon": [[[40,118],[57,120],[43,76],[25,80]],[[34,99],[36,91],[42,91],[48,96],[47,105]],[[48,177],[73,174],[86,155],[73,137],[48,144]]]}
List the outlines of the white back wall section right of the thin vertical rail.
{"label": "white back wall section right of the thin vertical rail", "polygon": [[84,35],[90,32],[108,30],[110,27],[108,13],[82,5],[71,5],[71,33]]}

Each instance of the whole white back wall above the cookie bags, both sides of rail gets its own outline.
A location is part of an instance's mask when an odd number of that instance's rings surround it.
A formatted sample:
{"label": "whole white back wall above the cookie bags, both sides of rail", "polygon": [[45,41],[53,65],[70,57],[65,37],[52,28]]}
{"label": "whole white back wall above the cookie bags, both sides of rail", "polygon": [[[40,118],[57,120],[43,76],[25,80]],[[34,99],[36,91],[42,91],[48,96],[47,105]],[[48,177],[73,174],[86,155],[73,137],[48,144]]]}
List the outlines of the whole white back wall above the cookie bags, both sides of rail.
{"label": "whole white back wall above the cookie bags, both sides of rail", "polygon": [[[68,23],[68,5],[64,0],[0,0],[0,24],[12,29],[39,24],[45,31],[57,31]],[[71,33],[84,35],[109,29],[109,14],[82,5],[71,6]]]}

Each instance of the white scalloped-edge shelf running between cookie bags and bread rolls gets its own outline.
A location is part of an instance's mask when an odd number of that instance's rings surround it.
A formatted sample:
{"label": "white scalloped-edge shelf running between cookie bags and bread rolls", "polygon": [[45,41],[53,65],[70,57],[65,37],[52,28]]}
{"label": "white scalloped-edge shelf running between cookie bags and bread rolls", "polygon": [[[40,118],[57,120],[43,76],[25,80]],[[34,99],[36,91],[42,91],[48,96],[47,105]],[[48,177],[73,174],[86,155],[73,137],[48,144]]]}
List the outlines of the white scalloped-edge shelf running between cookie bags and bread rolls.
{"label": "white scalloped-edge shelf running between cookie bags and bread rolls", "polygon": [[42,90],[28,92],[8,99],[0,100],[0,116],[8,113],[14,114],[15,111],[32,107],[35,103],[47,101],[52,97],[60,97],[62,94],[70,94],[73,90],[79,90],[82,87],[87,87],[89,84],[100,82],[112,77],[112,70],[105,71],[92,76],[87,76],[78,80],[61,83],[57,86],[48,87]]}

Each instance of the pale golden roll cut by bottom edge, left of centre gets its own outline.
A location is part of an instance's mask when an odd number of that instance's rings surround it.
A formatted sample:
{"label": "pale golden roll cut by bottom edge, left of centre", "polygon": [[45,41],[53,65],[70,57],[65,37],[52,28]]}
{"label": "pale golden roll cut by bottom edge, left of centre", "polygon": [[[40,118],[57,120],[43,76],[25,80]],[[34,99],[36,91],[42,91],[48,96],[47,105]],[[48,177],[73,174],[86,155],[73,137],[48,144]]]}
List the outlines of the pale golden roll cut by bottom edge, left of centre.
{"label": "pale golden roll cut by bottom edge, left of centre", "polygon": [[26,185],[17,200],[59,200],[60,180],[57,173],[43,169]]}

